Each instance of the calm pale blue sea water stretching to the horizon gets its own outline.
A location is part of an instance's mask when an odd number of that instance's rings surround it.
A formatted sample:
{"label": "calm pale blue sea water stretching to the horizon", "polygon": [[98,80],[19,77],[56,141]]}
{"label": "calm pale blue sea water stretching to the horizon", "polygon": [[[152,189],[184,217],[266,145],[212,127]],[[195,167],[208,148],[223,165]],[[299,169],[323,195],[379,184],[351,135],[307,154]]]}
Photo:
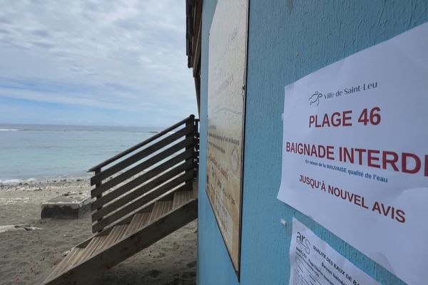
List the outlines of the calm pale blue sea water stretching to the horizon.
{"label": "calm pale blue sea water stretching to the horizon", "polygon": [[0,183],[88,177],[157,128],[0,124]]}

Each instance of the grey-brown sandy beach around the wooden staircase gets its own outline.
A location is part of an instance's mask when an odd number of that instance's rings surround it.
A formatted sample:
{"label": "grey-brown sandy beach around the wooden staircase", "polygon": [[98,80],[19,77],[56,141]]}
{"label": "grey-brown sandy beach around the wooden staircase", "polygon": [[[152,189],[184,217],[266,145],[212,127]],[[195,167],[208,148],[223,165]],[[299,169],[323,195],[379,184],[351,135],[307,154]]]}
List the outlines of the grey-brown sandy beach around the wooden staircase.
{"label": "grey-brown sandy beach around the wooden staircase", "polygon": [[[40,219],[41,203],[89,192],[86,179],[0,184],[0,284],[41,284],[74,245],[91,236],[83,219]],[[33,228],[1,232],[7,225]],[[12,227],[13,228],[13,227]],[[96,278],[93,284],[195,284],[197,223],[170,234]]]}

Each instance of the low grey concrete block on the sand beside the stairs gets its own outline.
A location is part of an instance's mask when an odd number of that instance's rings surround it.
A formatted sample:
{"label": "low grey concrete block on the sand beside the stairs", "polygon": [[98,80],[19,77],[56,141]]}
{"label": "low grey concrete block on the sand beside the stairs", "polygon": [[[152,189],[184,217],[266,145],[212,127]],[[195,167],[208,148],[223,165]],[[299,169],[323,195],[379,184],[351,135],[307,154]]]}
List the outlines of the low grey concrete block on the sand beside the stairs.
{"label": "low grey concrete block on the sand beside the stairs", "polygon": [[41,218],[80,219],[90,210],[90,195],[68,193],[42,203]]}

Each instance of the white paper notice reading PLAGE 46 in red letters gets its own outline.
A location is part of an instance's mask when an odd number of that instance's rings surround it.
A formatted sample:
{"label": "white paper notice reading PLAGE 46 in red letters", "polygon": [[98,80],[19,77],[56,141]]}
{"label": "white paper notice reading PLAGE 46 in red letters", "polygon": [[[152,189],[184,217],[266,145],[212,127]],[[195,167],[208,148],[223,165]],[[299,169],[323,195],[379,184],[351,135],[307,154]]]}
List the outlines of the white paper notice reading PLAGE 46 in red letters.
{"label": "white paper notice reading PLAGE 46 in red letters", "polygon": [[277,195],[407,284],[428,269],[428,23],[285,87]]}

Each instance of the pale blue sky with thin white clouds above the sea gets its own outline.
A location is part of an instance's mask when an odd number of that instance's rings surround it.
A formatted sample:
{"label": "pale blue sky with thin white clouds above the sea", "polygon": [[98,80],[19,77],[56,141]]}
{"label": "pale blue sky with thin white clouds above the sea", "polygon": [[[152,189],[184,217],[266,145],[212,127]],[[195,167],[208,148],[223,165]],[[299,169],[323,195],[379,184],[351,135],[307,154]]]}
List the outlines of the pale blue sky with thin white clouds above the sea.
{"label": "pale blue sky with thin white clouds above the sea", "polygon": [[0,123],[164,127],[197,112],[184,0],[0,6]]}

